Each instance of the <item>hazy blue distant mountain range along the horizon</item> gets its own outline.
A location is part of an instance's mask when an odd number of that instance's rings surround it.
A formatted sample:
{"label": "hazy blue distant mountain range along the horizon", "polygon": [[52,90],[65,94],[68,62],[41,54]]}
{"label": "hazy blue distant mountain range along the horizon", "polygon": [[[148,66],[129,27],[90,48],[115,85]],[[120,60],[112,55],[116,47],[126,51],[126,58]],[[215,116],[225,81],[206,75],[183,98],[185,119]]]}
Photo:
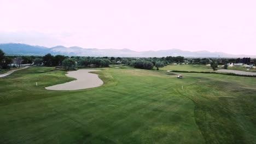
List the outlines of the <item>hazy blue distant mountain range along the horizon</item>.
{"label": "hazy blue distant mountain range along the horizon", "polygon": [[129,49],[83,49],[82,47],[72,46],[32,46],[27,44],[0,44],[7,55],[34,55],[43,56],[47,53],[51,55],[66,55],[66,56],[108,56],[108,57],[166,57],[166,56],[184,56],[184,57],[252,57],[256,55],[231,55],[223,52],[209,52],[209,51],[182,51],[178,49],[159,50],[159,51],[132,51]]}

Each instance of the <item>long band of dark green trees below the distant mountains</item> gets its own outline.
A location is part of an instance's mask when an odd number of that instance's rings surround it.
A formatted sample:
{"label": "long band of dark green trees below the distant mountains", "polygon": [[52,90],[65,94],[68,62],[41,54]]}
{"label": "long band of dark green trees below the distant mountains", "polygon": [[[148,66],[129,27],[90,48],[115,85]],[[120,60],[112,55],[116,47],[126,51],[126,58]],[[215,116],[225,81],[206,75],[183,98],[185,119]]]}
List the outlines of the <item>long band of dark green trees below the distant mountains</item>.
{"label": "long band of dark green trees below the distant mountains", "polygon": [[[256,64],[256,59],[253,59]],[[62,55],[53,56],[48,53],[45,56],[5,56],[0,50],[0,68],[7,69],[13,63],[14,67],[20,67],[21,64],[44,65],[47,67],[61,67],[65,69],[74,69],[78,67],[100,68],[109,67],[109,64],[125,64],[140,69],[156,70],[170,63],[185,64],[211,64],[213,70],[216,70],[219,64],[224,64],[224,68],[228,68],[227,63],[239,63],[240,58],[184,58],[182,56],[172,57],[68,57]]]}

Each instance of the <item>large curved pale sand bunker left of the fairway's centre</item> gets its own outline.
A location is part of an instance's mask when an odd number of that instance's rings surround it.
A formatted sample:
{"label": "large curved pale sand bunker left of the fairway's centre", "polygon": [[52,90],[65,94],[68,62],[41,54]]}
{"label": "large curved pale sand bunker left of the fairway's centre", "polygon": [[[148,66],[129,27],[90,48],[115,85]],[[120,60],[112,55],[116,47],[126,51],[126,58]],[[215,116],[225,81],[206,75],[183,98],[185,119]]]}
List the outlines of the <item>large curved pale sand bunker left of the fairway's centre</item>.
{"label": "large curved pale sand bunker left of the fairway's centre", "polygon": [[90,71],[98,71],[96,69],[79,69],[77,71],[68,71],[66,76],[73,77],[77,80],[62,83],[59,85],[54,85],[50,87],[45,87],[45,89],[55,90],[55,91],[70,91],[85,88],[98,87],[103,85],[103,81],[98,78],[97,74],[91,74]]}

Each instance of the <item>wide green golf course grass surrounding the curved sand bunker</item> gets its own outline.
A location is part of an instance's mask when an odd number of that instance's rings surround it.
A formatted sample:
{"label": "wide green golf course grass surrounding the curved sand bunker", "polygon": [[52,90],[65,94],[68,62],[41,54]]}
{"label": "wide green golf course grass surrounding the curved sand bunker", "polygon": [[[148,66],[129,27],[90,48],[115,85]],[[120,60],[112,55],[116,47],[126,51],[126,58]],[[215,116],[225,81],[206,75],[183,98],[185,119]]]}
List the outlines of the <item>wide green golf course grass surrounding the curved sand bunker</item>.
{"label": "wide green golf course grass surrounding the curved sand bunker", "polygon": [[0,78],[0,143],[256,143],[256,78],[166,72],[211,71],[197,66],[102,68],[104,85],[78,91],[44,89],[66,71],[15,71]]}

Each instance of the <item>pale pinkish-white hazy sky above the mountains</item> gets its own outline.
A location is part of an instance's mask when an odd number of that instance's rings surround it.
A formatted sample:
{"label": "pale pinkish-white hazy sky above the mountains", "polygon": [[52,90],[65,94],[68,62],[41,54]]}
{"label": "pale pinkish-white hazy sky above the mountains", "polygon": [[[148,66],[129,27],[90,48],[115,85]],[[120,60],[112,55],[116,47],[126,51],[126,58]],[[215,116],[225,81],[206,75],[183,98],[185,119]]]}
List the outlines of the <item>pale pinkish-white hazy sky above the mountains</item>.
{"label": "pale pinkish-white hazy sky above the mountains", "polygon": [[255,14],[255,0],[0,0],[0,43],[256,55]]}

